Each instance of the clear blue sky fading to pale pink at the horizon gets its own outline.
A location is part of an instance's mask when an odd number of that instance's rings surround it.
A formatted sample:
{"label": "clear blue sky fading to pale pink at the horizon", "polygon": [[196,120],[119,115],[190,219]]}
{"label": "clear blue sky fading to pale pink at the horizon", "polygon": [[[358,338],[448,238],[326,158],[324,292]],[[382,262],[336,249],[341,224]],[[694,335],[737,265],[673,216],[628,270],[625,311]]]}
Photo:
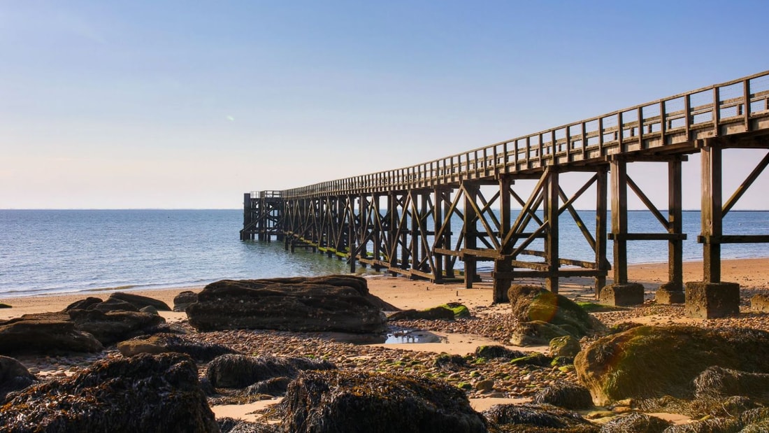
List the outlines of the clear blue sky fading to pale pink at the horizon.
{"label": "clear blue sky fading to pale pink at the horizon", "polygon": [[0,208],[241,208],[769,69],[769,2],[724,5],[0,0]]}

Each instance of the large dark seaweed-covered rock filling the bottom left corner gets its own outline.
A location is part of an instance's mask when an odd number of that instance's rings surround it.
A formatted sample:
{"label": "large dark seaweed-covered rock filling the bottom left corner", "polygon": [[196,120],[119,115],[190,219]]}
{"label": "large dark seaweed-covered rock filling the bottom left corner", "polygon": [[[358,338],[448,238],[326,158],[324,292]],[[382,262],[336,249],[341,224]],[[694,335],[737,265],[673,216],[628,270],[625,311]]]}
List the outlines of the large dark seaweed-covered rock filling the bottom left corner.
{"label": "large dark seaweed-covered rock filling the bottom left corner", "polygon": [[70,378],[32,385],[0,408],[0,425],[6,431],[219,431],[195,363],[180,354],[97,361]]}

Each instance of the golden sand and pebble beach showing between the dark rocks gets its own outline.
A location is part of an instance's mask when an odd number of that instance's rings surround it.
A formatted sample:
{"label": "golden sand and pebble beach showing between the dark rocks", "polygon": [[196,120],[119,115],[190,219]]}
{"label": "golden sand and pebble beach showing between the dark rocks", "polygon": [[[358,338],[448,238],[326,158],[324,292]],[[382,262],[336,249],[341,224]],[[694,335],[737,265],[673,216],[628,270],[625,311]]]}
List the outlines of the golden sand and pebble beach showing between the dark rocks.
{"label": "golden sand and pebble beach showing between the dark rocks", "polygon": [[[742,288],[741,308],[747,308],[749,297],[758,292],[769,289],[769,258],[744,259],[724,261],[722,264],[723,281],[734,281]],[[654,291],[659,285],[667,281],[667,264],[632,265],[629,268],[630,281],[640,282],[646,289],[646,298],[653,299]],[[684,265],[684,281],[698,281],[702,278],[702,264],[688,262]],[[538,281],[524,281],[533,282]],[[610,281],[611,282],[611,281]],[[541,281],[539,281],[541,284]],[[424,309],[447,302],[461,302],[470,308],[472,315],[478,320],[474,321],[416,321],[407,324],[412,328],[420,328],[430,331],[440,338],[435,343],[399,343],[399,344],[372,344],[351,345],[335,338],[323,335],[287,335],[287,333],[271,331],[218,331],[201,333],[196,338],[202,341],[218,342],[229,345],[244,353],[251,353],[258,347],[259,354],[285,355],[285,356],[322,356],[334,361],[340,368],[354,368],[371,370],[383,368],[387,361],[387,368],[404,373],[412,372],[409,368],[391,367],[393,364],[430,365],[432,357],[439,353],[467,355],[473,353],[480,345],[506,344],[509,334],[501,322],[508,315],[509,305],[494,305],[491,302],[491,281],[482,281],[467,289],[461,284],[435,285],[428,281],[411,281],[408,278],[375,276],[368,278],[368,288],[373,295],[389,302],[401,309]],[[173,299],[180,291],[200,291],[202,288],[173,288],[151,291],[131,291],[139,295],[145,295],[165,301],[173,305]],[[569,298],[580,301],[594,299],[593,280],[591,278],[565,278],[561,280],[560,292]],[[67,295],[33,296],[26,298],[0,299],[12,308],[0,309],[0,320],[15,318],[28,313],[61,311],[74,301],[87,296],[107,298],[107,292],[88,292]],[[601,321],[606,324],[618,321],[641,321],[644,323],[690,323],[694,325],[707,325],[707,321],[686,318],[683,308],[678,306],[656,306],[653,311],[648,308],[633,308],[620,313],[599,313]],[[185,325],[186,315],[180,312],[161,311],[169,323]],[[729,321],[730,325],[757,326],[769,329],[769,323],[765,319],[757,319],[752,315],[739,318],[716,319]],[[759,321],[756,323],[756,321]],[[712,321],[712,319],[711,319]],[[736,323],[735,323],[736,322]],[[190,328],[191,329],[191,328]],[[193,331],[194,332],[194,331]],[[509,348],[515,348],[508,345]],[[547,351],[547,347],[518,348],[524,351]],[[333,354],[333,355],[330,355]],[[100,357],[121,356],[114,347],[108,348]],[[85,367],[90,359],[68,359],[45,357],[42,359],[24,357],[19,358],[28,368],[34,368],[40,375],[71,375],[78,368]],[[392,360],[404,362],[394,363]],[[421,367],[420,367],[421,368]],[[429,371],[429,369],[428,369]],[[520,371],[506,365],[488,365],[478,368],[481,377],[489,376],[501,378],[498,380],[496,391],[479,392],[468,391],[471,405],[480,411],[491,405],[503,402],[527,401],[534,389],[554,381],[576,381],[573,372],[550,371]],[[524,378],[520,378],[523,376]],[[452,381],[471,381],[471,378],[457,377]],[[275,403],[271,401],[252,401],[246,405],[221,404],[212,405],[217,417],[229,416],[253,420],[258,415],[255,411],[265,408],[266,405]],[[678,415],[670,415],[668,418],[684,422],[686,418]]]}

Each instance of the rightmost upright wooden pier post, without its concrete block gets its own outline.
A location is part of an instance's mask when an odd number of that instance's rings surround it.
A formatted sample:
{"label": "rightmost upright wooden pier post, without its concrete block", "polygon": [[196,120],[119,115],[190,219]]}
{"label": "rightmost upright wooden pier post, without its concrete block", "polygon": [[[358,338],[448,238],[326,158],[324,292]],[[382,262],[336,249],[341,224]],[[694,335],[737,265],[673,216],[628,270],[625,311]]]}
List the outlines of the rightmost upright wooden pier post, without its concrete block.
{"label": "rightmost upright wooden pier post, without its concrete block", "polygon": [[722,198],[721,147],[710,140],[700,150],[702,157],[702,252],[704,282],[721,281]]}

